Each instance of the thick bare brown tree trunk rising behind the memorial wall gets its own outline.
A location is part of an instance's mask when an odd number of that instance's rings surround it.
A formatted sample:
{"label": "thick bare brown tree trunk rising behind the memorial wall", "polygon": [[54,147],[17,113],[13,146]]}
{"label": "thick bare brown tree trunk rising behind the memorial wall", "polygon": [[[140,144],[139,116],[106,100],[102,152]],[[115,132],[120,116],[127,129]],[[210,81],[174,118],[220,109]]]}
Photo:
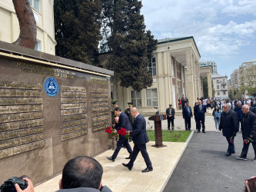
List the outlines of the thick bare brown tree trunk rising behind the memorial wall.
{"label": "thick bare brown tree trunk rising behind the memorial wall", "polygon": [[25,48],[35,48],[36,41],[36,22],[32,8],[28,0],[12,0],[17,14],[20,34],[18,39],[13,42]]}

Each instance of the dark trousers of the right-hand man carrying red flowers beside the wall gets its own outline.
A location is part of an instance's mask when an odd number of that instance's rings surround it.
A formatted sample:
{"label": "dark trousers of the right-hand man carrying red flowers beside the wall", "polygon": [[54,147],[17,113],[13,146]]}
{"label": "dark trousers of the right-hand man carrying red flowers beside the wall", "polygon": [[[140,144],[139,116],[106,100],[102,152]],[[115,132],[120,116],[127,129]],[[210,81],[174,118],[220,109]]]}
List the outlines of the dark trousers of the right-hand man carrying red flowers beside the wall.
{"label": "dark trousers of the right-hand man carrying red flowers beside the wall", "polygon": [[141,151],[141,155],[144,158],[144,161],[145,161],[147,167],[152,168],[152,164],[151,164],[151,161],[148,156],[146,144],[135,144],[135,147],[133,147],[131,160],[128,163],[129,167],[133,167],[133,164],[135,163],[135,160],[138,156],[138,152],[140,152],[140,151]]}

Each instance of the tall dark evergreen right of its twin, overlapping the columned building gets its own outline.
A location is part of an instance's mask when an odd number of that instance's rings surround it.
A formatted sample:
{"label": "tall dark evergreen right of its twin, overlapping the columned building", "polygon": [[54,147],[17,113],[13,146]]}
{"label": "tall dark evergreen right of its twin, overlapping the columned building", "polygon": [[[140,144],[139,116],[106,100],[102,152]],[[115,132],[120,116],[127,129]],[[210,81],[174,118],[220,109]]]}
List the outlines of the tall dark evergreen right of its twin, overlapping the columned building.
{"label": "tall dark evergreen right of its twin, overlapping the columned building", "polygon": [[105,0],[103,15],[108,29],[105,50],[109,50],[109,68],[115,71],[113,95],[117,98],[117,85],[131,87],[135,91],[152,85],[152,74],[148,71],[157,41],[151,31],[145,31],[141,1]]}

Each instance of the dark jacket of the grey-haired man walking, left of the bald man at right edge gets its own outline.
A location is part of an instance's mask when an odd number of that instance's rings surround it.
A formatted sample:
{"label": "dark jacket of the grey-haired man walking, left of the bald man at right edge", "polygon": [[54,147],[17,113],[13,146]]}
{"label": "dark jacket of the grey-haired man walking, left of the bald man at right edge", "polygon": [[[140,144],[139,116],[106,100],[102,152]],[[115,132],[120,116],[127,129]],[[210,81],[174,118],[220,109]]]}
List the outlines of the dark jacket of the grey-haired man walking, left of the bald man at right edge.
{"label": "dark jacket of the grey-haired man walking, left of the bald man at right edge", "polygon": [[228,113],[221,113],[221,123],[218,128],[222,130],[224,137],[232,137],[232,135],[238,132],[238,116],[233,110],[229,110]]}

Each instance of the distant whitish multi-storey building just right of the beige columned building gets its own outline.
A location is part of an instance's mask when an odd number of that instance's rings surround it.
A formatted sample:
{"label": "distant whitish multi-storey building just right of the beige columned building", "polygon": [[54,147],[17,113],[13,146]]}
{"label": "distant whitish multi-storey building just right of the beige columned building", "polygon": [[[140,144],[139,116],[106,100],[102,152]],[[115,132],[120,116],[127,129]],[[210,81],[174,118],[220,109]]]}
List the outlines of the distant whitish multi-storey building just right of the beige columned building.
{"label": "distant whitish multi-storey building just right of the beige columned building", "polygon": [[228,76],[220,74],[211,74],[211,79],[214,86],[214,98],[228,98]]}

